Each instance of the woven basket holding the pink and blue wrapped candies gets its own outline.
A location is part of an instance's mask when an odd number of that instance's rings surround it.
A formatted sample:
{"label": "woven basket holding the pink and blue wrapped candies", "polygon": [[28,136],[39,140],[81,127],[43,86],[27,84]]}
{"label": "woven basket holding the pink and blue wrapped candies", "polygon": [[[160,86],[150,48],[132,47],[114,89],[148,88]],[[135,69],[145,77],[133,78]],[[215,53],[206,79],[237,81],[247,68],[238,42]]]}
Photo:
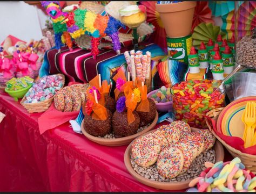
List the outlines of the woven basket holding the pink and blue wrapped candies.
{"label": "woven basket holding the pink and blue wrapped candies", "polygon": [[[61,75],[63,76],[63,85],[62,88],[64,87],[64,83],[65,83],[65,76],[63,74],[57,74],[57,75]],[[32,88],[31,88],[32,89]],[[46,110],[49,109],[52,101],[53,101],[53,97],[44,100],[43,102],[39,102],[39,103],[23,103],[26,98],[25,96],[22,98],[21,100],[21,104],[25,107],[25,109],[29,112],[29,113],[33,113],[33,112],[44,112]]]}

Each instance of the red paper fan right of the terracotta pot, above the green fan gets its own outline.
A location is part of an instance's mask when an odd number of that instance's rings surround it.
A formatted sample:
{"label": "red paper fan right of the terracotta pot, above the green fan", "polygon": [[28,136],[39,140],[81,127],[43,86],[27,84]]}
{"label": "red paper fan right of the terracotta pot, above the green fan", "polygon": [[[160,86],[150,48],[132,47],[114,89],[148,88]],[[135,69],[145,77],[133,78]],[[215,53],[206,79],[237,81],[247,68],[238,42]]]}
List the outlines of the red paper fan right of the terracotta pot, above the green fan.
{"label": "red paper fan right of the terracotta pot, above the green fan", "polygon": [[212,10],[208,7],[208,2],[198,1],[197,6],[194,9],[193,23],[191,28],[192,32],[194,27],[202,22],[214,24],[214,21],[211,18]]}

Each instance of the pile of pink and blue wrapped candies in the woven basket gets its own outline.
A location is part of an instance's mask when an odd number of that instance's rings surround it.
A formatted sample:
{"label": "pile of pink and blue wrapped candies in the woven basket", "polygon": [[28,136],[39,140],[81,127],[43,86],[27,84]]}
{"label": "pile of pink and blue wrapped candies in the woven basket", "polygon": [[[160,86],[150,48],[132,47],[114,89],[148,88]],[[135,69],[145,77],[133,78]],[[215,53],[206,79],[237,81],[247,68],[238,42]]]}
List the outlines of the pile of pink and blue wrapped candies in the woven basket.
{"label": "pile of pink and blue wrapped candies in the woven basket", "polygon": [[24,103],[38,103],[53,97],[62,88],[63,82],[61,75],[41,77],[26,93]]}

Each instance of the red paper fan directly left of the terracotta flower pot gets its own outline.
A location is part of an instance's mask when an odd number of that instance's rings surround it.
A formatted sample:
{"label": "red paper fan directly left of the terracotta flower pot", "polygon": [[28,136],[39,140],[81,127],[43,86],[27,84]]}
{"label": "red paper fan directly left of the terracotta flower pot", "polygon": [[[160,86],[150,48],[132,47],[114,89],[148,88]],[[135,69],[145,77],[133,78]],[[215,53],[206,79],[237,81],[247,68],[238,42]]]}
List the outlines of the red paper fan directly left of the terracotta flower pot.
{"label": "red paper fan directly left of the terracotta flower pot", "polygon": [[164,24],[161,21],[159,13],[156,11],[156,1],[141,1],[139,2],[146,6],[147,22],[155,27],[155,31],[152,34],[152,40],[155,44],[164,49],[167,53],[167,42]]}

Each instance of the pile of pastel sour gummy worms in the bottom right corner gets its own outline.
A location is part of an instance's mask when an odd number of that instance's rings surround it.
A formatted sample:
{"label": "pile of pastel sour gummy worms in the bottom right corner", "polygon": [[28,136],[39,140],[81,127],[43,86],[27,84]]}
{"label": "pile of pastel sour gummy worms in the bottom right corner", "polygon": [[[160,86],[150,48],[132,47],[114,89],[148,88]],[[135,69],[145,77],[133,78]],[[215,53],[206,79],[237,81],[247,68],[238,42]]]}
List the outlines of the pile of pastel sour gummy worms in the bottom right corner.
{"label": "pile of pastel sour gummy worms in the bottom right corner", "polygon": [[246,170],[239,157],[229,162],[205,163],[208,167],[193,179],[188,192],[255,192],[256,177],[252,178],[250,170]]}

